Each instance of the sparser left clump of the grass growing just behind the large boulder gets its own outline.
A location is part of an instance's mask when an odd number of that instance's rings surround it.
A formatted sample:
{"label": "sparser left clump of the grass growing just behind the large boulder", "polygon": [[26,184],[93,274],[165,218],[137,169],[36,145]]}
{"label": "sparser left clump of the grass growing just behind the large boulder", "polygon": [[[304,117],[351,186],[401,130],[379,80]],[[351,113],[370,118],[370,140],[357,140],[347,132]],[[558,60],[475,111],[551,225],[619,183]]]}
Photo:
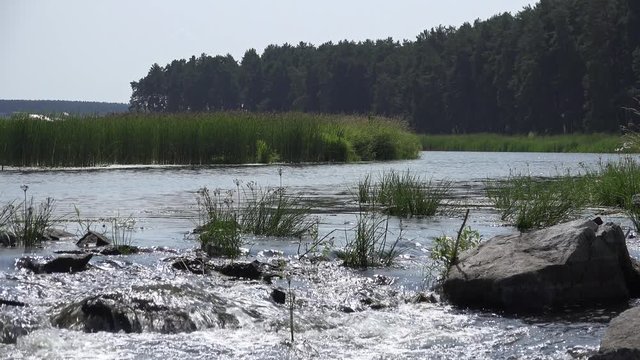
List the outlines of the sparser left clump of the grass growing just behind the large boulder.
{"label": "sparser left clump of the grass growing just behind the large boulder", "polygon": [[587,182],[569,174],[553,179],[509,176],[487,184],[487,197],[520,231],[569,220],[588,202]]}

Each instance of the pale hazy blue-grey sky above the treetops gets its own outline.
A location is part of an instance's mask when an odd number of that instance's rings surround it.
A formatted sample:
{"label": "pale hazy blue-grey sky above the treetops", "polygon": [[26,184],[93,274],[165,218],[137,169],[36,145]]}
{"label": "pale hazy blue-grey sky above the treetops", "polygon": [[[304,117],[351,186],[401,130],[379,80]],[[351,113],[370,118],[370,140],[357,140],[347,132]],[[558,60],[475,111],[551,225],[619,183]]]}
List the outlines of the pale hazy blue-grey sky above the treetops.
{"label": "pale hazy blue-grey sky above the treetops", "polygon": [[534,0],[0,0],[0,99],[128,103],[152,64],[270,44],[415,40]]}

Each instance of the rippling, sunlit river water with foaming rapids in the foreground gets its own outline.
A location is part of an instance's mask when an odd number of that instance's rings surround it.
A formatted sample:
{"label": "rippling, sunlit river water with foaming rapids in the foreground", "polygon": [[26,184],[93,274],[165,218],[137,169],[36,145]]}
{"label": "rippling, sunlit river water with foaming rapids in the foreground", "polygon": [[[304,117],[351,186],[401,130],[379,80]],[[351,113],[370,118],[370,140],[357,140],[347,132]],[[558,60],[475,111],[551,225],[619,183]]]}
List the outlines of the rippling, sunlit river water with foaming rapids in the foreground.
{"label": "rippling, sunlit river water with foaming rapids in the foreground", "polygon": [[[403,255],[391,269],[363,272],[347,270],[334,262],[309,265],[292,261],[287,271],[292,274],[297,299],[297,338],[293,347],[285,343],[289,312],[269,297],[273,287],[286,287],[284,281],[267,285],[213,275],[202,277],[176,272],[163,260],[176,252],[190,253],[197,246],[188,234],[198,222],[195,193],[203,186],[234,190],[235,179],[244,183],[256,181],[265,188],[282,182],[290,192],[310,199],[320,221],[321,235],[334,229],[340,230],[336,234],[342,234],[355,221],[351,194],[358,180],[366,174],[376,177],[384,170],[411,169],[433,181],[452,181],[456,192],[451,201],[474,205],[468,225],[483,238],[490,238],[514,229],[501,223],[495,211],[485,206],[485,180],[510,173],[577,173],[585,166],[617,157],[423,152],[420,159],[412,161],[285,165],[282,178],[278,176],[278,166],[257,165],[33,171],[5,168],[0,172],[0,204],[12,200],[19,203],[24,196],[20,185],[28,184],[29,197],[36,201],[47,196],[56,200],[56,214],[60,217],[73,219],[74,205],[83,219],[91,219],[97,225],[102,218],[131,216],[136,221],[133,243],[161,248],[129,257],[95,257],[91,262],[94,268],[73,275],[16,271],[14,261],[23,255],[22,251],[0,250],[0,298],[29,304],[25,308],[0,308],[0,321],[19,323],[32,330],[19,337],[17,344],[0,345],[0,358],[580,358],[597,349],[606,323],[615,312],[591,311],[570,319],[523,319],[409,301],[424,287],[428,272],[425,264],[433,238],[457,231],[462,221],[459,215],[402,221],[403,240],[399,246]],[[630,225],[619,216],[605,220]],[[73,221],[62,226],[71,232],[79,231]],[[390,228],[397,232],[398,226],[399,221],[392,219]],[[298,250],[295,240],[248,240],[251,259],[291,258]],[[344,239],[336,235],[335,241],[339,247]],[[71,240],[61,241],[35,255],[72,248]],[[629,248],[638,257],[640,245],[636,239],[629,241]],[[393,282],[375,285],[376,275],[388,276]],[[51,316],[60,306],[103,292],[135,293],[191,309],[193,317],[202,320],[201,327],[179,334],[88,334],[50,325]],[[211,326],[207,317],[213,310],[204,300],[209,298],[215,299],[221,311],[237,319],[237,324]],[[363,298],[379,300],[384,306],[374,310],[363,305]],[[346,313],[345,307],[355,312]]]}

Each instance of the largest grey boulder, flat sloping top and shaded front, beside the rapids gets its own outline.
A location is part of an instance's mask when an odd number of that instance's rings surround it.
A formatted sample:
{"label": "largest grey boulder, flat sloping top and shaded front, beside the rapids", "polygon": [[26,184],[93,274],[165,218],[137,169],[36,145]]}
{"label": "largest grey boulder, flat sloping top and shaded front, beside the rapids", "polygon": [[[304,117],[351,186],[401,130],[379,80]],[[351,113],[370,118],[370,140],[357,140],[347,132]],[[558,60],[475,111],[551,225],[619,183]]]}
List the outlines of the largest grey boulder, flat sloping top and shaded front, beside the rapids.
{"label": "largest grey boulder, flat sloping top and shaded front, beside the rapids", "polygon": [[579,220],[497,236],[461,255],[443,283],[453,304],[508,312],[619,303],[640,293],[620,226]]}

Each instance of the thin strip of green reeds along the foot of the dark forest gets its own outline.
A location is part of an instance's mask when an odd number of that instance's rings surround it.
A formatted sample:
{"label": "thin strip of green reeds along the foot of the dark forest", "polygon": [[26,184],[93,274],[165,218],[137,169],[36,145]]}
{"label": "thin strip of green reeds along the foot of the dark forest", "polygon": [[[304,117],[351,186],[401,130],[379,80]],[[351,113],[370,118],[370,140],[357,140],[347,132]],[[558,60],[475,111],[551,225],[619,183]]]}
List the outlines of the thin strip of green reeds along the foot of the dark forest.
{"label": "thin strip of green reeds along the foot of the dark forest", "polygon": [[573,135],[421,135],[423,150],[489,152],[614,153],[620,150],[620,136],[612,134]]}

